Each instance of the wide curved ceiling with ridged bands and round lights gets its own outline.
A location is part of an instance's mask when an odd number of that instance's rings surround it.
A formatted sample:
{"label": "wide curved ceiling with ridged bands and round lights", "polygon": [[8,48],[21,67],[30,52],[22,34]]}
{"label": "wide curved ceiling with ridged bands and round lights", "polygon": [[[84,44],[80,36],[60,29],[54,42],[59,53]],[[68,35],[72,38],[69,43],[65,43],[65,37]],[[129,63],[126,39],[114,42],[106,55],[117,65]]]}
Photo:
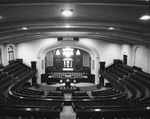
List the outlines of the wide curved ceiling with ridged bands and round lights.
{"label": "wide curved ceiling with ridged bands and round lights", "polygon": [[[62,16],[62,9],[73,15]],[[69,36],[149,46],[144,14],[148,0],[0,0],[0,44]]]}

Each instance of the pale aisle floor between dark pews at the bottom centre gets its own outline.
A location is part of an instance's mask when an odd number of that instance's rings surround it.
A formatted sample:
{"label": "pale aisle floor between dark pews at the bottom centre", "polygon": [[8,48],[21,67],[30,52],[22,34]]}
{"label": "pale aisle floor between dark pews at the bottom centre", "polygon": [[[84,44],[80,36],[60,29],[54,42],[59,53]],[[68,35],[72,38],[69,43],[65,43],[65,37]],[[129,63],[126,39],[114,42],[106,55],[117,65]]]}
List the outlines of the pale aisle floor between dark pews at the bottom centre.
{"label": "pale aisle floor between dark pews at the bottom centre", "polygon": [[76,119],[76,113],[73,111],[72,106],[64,106],[60,113],[60,119]]}

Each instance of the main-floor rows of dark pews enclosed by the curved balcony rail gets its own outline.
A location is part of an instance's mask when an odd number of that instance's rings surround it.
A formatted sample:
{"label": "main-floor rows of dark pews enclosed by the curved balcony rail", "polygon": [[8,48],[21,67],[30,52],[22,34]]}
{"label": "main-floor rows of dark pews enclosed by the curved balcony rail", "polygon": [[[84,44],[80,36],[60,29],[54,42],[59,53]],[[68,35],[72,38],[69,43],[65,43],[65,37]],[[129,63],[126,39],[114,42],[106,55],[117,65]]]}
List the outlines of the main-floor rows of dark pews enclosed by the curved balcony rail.
{"label": "main-floor rows of dark pews enclosed by the curved balcony rail", "polygon": [[[65,96],[63,91],[43,91],[37,89],[30,89],[26,87],[20,87],[12,92],[16,97],[28,97],[38,98],[42,100],[55,99],[65,102]],[[81,99],[98,100],[98,99],[110,99],[110,98],[123,98],[123,93],[115,88],[109,88],[108,90],[94,90],[91,92],[86,91],[74,91],[71,93],[70,101],[82,101]]]}

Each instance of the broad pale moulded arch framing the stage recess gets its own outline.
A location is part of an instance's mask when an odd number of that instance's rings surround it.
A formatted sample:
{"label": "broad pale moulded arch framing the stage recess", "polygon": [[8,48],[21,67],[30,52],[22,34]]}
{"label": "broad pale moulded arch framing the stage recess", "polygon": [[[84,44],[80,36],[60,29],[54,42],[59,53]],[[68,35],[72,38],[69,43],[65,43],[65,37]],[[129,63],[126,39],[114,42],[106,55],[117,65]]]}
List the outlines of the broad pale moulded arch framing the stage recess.
{"label": "broad pale moulded arch framing the stage recess", "polygon": [[[58,41],[49,46],[45,46],[40,49],[37,55],[37,68],[38,68],[38,83],[41,82],[41,74],[45,73],[45,66],[46,66],[46,54],[50,51],[57,51],[57,49],[63,49],[66,47],[71,47],[74,49],[80,49],[81,51],[85,51],[90,55],[90,67],[91,67],[91,74],[95,75],[95,84],[99,83],[98,74],[99,74],[99,54],[93,46],[89,46],[87,44],[83,44],[79,41]],[[57,51],[60,52],[60,51]],[[79,51],[77,51],[77,54]],[[58,53],[59,54],[59,53]],[[52,59],[53,60],[53,59]]]}

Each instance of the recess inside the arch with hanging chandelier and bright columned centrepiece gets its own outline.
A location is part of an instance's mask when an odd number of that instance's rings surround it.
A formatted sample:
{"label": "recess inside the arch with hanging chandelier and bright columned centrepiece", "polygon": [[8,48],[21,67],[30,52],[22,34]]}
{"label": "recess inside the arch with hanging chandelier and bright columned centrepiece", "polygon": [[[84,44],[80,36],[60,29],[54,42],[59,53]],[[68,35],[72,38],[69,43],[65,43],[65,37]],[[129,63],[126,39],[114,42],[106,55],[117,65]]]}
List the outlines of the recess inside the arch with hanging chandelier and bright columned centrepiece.
{"label": "recess inside the arch with hanging chandelier and bright columned centrepiece", "polygon": [[79,48],[62,47],[46,53],[45,68],[47,67],[55,67],[56,70],[81,70],[83,67],[91,69],[91,57],[88,52]]}

